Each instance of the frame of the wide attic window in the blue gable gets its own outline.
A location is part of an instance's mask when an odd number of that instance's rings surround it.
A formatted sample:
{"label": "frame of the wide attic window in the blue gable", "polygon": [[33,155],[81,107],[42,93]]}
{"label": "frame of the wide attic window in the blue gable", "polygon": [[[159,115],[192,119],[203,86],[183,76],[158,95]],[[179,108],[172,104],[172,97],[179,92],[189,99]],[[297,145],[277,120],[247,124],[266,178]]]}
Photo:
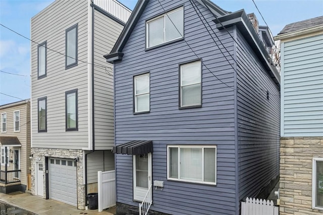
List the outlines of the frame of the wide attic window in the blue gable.
{"label": "frame of the wide attic window in the blue gable", "polygon": [[[179,37],[179,38],[167,41],[167,42],[163,42],[163,43],[148,47],[148,44],[149,44],[149,42],[148,42],[148,30],[149,30],[148,24],[150,22],[154,21],[154,20],[157,20],[157,19],[161,18],[161,17],[166,17],[167,14],[176,12],[177,10],[180,10],[181,8],[183,9],[183,35],[182,35],[182,37]],[[163,45],[167,45],[167,44],[170,44],[170,43],[173,43],[173,42],[177,42],[177,41],[180,41],[180,40],[184,40],[184,38],[185,38],[185,13],[184,13],[185,10],[184,9],[185,9],[184,5],[179,5],[179,6],[175,7],[175,8],[172,8],[170,10],[164,11],[162,13],[157,14],[156,16],[153,16],[153,17],[148,18],[148,19],[145,20],[145,23],[146,23],[146,25],[145,25],[145,51],[153,49],[153,48],[156,48],[156,47],[160,47],[160,46],[163,46]],[[164,18],[164,37],[165,37],[165,18]],[[164,38],[164,40],[165,40],[165,38]]]}

